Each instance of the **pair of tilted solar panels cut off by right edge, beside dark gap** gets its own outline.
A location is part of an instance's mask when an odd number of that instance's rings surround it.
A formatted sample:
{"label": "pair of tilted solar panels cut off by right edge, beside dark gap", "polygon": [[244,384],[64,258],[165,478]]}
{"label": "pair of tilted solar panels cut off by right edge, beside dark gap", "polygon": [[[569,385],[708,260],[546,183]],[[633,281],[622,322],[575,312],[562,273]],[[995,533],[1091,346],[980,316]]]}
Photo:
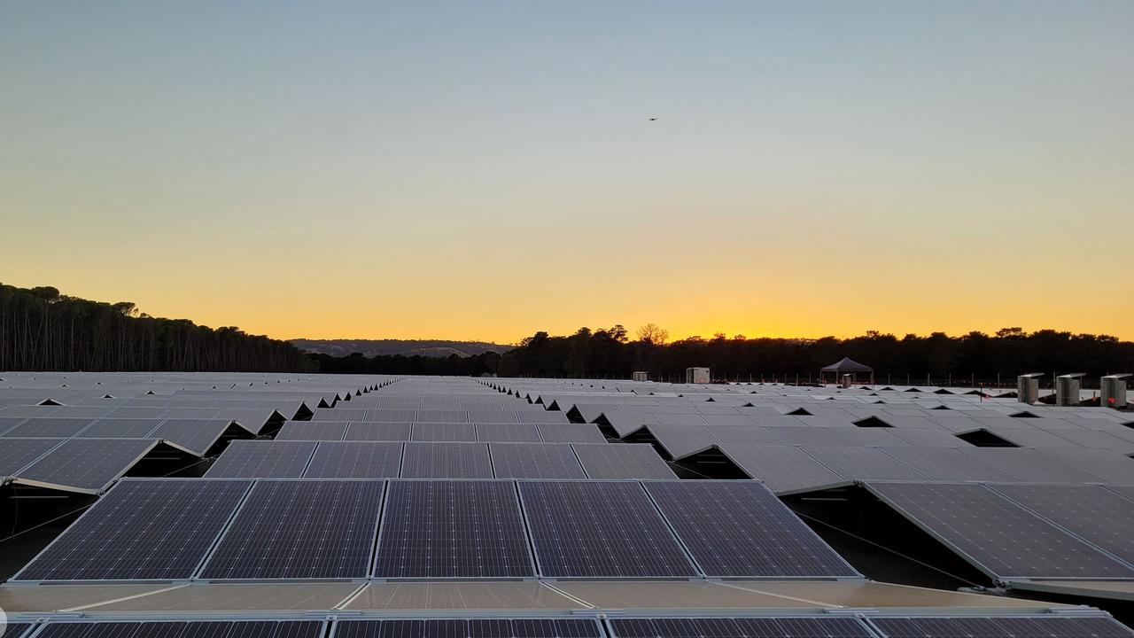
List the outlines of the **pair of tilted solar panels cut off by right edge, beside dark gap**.
{"label": "pair of tilted solar panels cut off by right edge, beside dark gap", "polygon": [[993,579],[1134,579],[1134,487],[866,487]]}

